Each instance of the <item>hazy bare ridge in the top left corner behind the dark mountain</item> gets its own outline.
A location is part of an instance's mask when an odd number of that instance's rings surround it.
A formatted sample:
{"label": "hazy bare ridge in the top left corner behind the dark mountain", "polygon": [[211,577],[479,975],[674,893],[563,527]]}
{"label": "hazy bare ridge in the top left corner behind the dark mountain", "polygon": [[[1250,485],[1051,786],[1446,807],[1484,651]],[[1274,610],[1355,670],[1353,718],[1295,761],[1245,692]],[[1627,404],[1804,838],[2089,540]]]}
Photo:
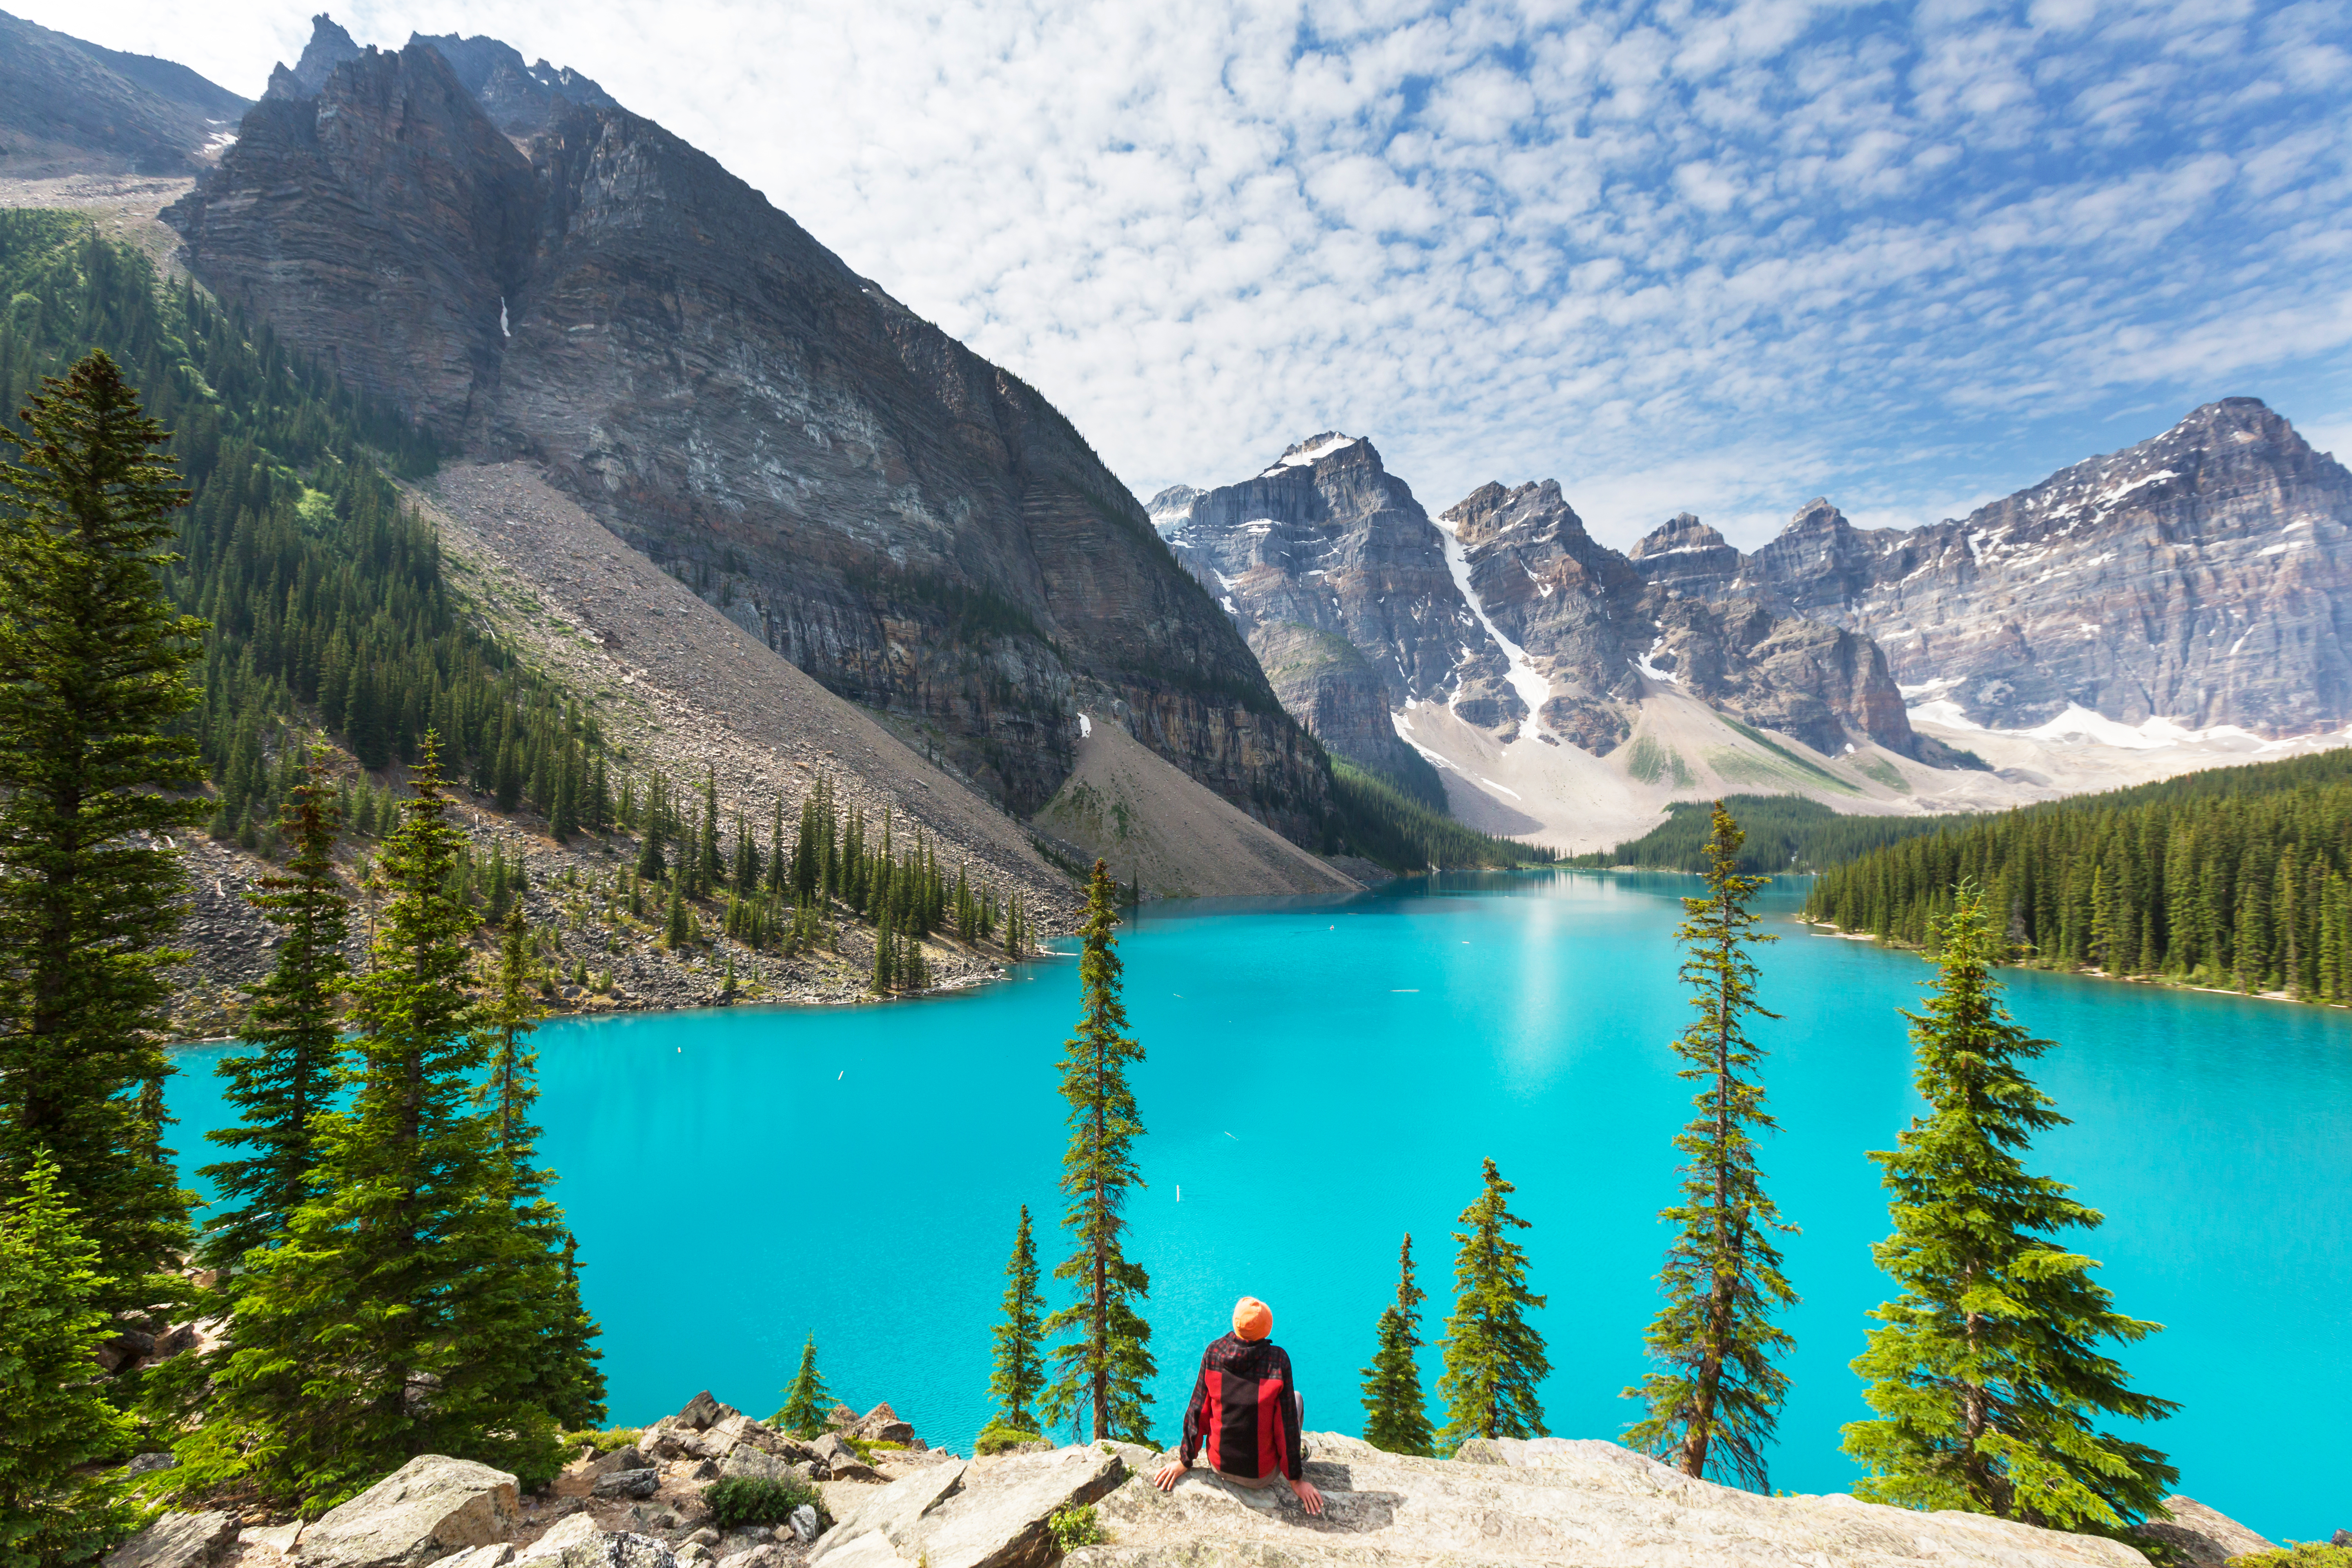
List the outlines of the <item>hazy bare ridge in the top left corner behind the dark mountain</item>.
{"label": "hazy bare ridge in the top left corner behind the dark mountain", "polygon": [[245,108],[186,66],[0,12],[0,179],[195,174]]}

